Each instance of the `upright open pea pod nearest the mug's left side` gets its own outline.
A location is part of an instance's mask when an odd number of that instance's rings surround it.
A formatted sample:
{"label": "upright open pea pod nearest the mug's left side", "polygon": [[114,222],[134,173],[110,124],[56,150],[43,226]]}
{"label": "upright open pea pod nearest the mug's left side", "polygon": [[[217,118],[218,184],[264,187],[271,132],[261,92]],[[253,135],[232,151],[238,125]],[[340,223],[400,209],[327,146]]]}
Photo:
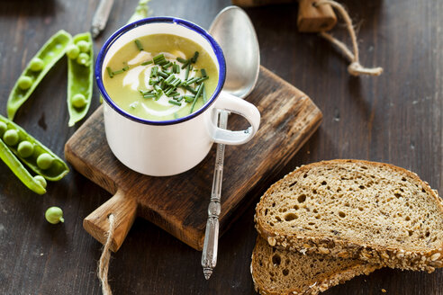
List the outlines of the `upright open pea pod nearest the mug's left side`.
{"label": "upright open pea pod nearest the mug's left side", "polygon": [[94,50],[89,32],[77,34],[68,49],[68,125],[82,120],[91,104]]}

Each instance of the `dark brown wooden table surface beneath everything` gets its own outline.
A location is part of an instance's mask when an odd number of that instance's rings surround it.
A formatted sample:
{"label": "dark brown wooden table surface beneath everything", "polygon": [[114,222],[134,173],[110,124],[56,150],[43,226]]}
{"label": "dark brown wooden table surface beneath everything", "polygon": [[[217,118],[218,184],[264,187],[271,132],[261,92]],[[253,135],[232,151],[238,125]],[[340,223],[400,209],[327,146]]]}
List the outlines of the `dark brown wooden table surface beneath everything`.
{"label": "dark brown wooden table surface beneath everything", "polygon": [[[247,10],[258,32],[262,65],[312,97],[324,114],[318,130],[270,185],[296,165],[331,158],[362,158],[400,165],[441,189],[443,111],[443,2],[344,1],[357,20],[364,66],[384,67],[379,77],[352,77],[347,62],[314,34],[297,32],[297,5]],[[51,34],[89,30],[98,1],[0,1],[0,113],[25,64]],[[105,38],[130,17],[136,0],[115,1]],[[153,15],[175,15],[209,27],[228,0],[152,0]],[[339,25],[334,34],[347,39]],[[96,51],[95,51],[96,52]],[[245,54],[247,54],[245,52]],[[16,115],[16,122],[59,156],[78,128],[68,128],[67,62],[63,58]],[[95,89],[91,111],[99,105]],[[230,177],[226,171],[225,177]],[[39,196],[0,163],[0,293],[100,294],[96,263],[101,245],[82,220],[110,194],[72,171]],[[250,193],[258,201],[262,192]],[[208,196],[209,198],[209,196]],[[66,222],[43,217],[53,205]],[[114,294],[254,294],[249,274],[255,243],[254,206],[221,238],[219,263],[209,282],[201,253],[137,219],[113,255]],[[325,294],[443,294],[443,271],[384,269]]]}

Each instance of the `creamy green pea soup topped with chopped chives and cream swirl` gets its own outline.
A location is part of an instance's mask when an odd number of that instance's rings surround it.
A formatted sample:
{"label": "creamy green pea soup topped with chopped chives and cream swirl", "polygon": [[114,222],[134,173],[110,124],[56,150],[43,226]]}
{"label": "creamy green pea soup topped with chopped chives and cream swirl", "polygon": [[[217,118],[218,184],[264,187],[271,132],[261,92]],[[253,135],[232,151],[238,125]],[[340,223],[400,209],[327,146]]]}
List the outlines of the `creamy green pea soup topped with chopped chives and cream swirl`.
{"label": "creamy green pea soup topped with chopped chives and cream swirl", "polygon": [[200,109],[218,83],[210,55],[193,40],[152,34],[125,44],[106,65],[104,88],[114,103],[151,121]]}

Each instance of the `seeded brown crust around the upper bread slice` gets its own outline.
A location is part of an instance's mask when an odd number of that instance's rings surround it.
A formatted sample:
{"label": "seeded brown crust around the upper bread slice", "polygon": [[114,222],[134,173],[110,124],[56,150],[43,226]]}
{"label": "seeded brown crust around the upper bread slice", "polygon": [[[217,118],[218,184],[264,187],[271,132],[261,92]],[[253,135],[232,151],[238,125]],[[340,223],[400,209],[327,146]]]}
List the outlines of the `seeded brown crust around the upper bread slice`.
{"label": "seeded brown crust around the upper bread slice", "polygon": [[[438,197],[437,191],[430,188],[429,183],[423,182],[419,176],[404,168],[377,162],[370,162],[365,160],[351,160],[338,159],[330,161],[321,161],[312,163],[310,165],[303,165],[295,169],[292,173],[285,175],[285,177],[274,183],[258,202],[256,208],[256,228],[261,237],[264,237],[270,246],[289,249],[292,251],[300,251],[302,253],[320,253],[323,255],[332,255],[336,257],[351,257],[361,259],[372,264],[382,264],[392,268],[400,268],[404,270],[419,270],[433,272],[436,268],[443,266],[443,242],[438,248],[429,251],[413,251],[411,249],[402,249],[399,247],[386,247],[378,245],[361,245],[357,241],[351,239],[338,239],[334,237],[307,237],[303,233],[296,235],[278,233],[273,228],[267,226],[263,222],[263,210],[266,208],[263,205],[263,198],[274,192],[280,187],[280,184],[286,178],[292,177],[294,174],[307,172],[313,166],[330,165],[330,164],[346,164],[353,163],[357,165],[373,165],[384,166],[397,171],[400,174],[411,177],[415,182],[420,183],[422,188],[428,193],[429,197],[436,202],[440,212],[443,212],[443,201]],[[443,237],[439,237],[442,239]]]}

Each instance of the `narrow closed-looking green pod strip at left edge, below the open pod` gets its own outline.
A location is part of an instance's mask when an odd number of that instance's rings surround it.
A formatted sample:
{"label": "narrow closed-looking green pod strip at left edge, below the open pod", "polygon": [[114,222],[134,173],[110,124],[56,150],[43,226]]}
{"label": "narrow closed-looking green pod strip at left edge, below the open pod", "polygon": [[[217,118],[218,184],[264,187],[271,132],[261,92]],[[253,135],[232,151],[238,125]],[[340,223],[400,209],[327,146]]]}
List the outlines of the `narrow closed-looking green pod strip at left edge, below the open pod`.
{"label": "narrow closed-looking green pod strip at left edge, below the open pod", "polygon": [[32,177],[32,174],[26,170],[23,164],[14,156],[13,152],[6,146],[5,142],[0,139],[0,158],[11,169],[24,185],[32,192],[43,194],[46,192],[41,183]]}

